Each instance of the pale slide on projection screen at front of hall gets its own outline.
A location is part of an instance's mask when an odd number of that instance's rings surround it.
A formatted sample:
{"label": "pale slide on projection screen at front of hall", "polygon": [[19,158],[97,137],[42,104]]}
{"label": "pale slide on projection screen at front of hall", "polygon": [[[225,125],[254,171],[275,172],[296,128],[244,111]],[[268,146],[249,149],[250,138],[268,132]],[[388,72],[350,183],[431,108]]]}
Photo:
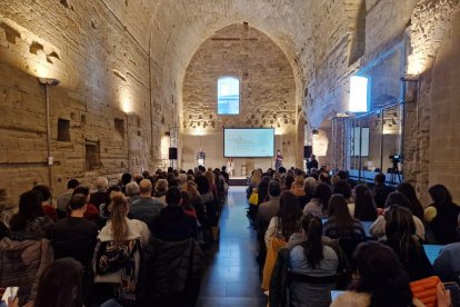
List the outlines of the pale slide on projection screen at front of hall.
{"label": "pale slide on projection screen at front of hall", "polygon": [[274,129],[223,129],[223,156],[256,158],[274,156]]}

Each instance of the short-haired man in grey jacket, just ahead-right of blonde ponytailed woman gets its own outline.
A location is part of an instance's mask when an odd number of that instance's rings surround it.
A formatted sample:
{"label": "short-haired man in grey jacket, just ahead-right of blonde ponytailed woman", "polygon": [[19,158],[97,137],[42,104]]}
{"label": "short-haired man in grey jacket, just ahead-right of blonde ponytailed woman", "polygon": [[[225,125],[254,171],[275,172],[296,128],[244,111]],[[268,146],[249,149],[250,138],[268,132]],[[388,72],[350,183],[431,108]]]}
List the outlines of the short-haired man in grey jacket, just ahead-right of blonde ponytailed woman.
{"label": "short-haired man in grey jacket, just ahead-right of blonde ponytailed woman", "polygon": [[[137,185],[137,184],[136,184]],[[142,179],[139,185],[140,197],[131,202],[128,217],[143,221],[152,229],[153,219],[160,214],[163,204],[152,198],[152,184],[149,179]],[[127,191],[129,185],[127,186]]]}

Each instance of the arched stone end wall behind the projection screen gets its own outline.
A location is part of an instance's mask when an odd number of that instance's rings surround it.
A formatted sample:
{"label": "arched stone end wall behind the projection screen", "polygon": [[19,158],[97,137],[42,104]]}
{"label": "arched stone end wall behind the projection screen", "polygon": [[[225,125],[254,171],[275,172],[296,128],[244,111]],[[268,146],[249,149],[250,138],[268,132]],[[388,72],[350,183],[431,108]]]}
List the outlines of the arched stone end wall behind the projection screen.
{"label": "arched stone end wall behind the projection screen", "polygon": [[[218,79],[223,76],[240,81],[239,115],[217,112]],[[182,168],[196,166],[200,149],[207,152],[207,167],[224,165],[223,127],[274,128],[276,149],[287,166],[296,164],[294,77],[282,50],[259,30],[232,24],[204,41],[187,68],[182,97]],[[236,159],[236,175],[242,166],[267,168],[272,161]]]}

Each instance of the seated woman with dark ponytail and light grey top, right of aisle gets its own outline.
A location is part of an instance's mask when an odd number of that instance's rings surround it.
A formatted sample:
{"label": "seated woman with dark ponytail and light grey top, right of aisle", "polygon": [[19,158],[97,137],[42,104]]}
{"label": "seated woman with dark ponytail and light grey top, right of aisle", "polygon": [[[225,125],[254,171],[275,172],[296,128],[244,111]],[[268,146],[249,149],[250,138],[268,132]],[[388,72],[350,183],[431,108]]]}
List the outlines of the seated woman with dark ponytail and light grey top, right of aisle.
{"label": "seated woman with dark ponytail and light grey top, right of aisle", "polygon": [[[283,306],[282,297],[289,287],[289,306],[329,306],[330,290],[336,287],[340,270],[337,245],[322,240],[322,222],[319,217],[308,214],[301,219],[306,240],[291,249],[279,251],[277,265],[271,275],[270,306]],[[340,254],[340,252],[339,252]],[[282,280],[289,280],[283,285]],[[286,284],[286,283],[284,283]],[[282,294],[281,294],[282,293]]]}

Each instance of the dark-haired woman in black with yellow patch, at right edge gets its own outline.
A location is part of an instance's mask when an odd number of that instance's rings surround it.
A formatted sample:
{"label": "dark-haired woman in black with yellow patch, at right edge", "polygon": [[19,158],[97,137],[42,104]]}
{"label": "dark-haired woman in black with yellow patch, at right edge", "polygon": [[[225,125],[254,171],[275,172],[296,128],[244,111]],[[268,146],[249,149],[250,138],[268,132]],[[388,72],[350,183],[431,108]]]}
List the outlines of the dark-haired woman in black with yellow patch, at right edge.
{"label": "dark-haired woman in black with yellow patch, at right edge", "polygon": [[460,207],[452,202],[452,196],[442,185],[432,186],[428,192],[433,204],[427,208],[424,219],[436,241],[438,244],[458,241],[457,229],[459,228]]}

